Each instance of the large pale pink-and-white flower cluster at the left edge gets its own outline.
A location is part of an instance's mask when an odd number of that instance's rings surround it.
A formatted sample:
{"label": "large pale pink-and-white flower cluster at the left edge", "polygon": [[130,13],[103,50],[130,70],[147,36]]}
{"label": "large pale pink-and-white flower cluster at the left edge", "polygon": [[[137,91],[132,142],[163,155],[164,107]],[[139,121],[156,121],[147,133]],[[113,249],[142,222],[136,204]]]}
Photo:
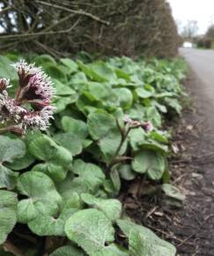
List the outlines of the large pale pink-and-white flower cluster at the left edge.
{"label": "large pale pink-and-white flower cluster at the left edge", "polygon": [[6,131],[18,134],[25,133],[28,128],[46,130],[55,110],[51,106],[55,90],[50,78],[41,68],[24,60],[12,66],[18,72],[18,89],[15,98],[11,99],[7,92],[10,80],[0,79],[0,122]]}

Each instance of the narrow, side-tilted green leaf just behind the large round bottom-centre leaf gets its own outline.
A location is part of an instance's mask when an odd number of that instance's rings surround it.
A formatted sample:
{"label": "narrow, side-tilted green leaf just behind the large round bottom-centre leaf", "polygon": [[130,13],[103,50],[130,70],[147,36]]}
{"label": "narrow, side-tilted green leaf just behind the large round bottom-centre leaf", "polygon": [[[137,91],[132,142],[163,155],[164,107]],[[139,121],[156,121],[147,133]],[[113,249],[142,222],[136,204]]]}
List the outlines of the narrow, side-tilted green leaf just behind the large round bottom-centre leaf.
{"label": "narrow, side-tilted green leaf just behind the large round bottom-centre leaf", "polygon": [[90,207],[94,207],[102,211],[111,221],[119,219],[122,215],[122,204],[119,200],[98,199],[89,193],[82,193],[81,198]]}

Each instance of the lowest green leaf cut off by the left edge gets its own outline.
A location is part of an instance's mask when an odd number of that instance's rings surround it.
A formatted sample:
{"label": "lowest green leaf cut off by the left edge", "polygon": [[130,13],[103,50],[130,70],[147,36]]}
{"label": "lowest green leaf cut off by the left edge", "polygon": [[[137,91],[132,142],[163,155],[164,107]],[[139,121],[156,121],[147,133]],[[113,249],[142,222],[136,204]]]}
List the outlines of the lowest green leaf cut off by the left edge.
{"label": "lowest green leaf cut off by the left edge", "polygon": [[0,190],[0,245],[17,222],[17,194]]}

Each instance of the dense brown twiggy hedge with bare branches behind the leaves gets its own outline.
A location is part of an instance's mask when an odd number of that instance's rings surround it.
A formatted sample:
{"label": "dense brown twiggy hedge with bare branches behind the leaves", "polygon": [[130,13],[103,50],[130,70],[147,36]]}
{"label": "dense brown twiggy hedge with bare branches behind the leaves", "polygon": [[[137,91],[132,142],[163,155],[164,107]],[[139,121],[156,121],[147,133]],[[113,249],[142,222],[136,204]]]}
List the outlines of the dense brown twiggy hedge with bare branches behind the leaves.
{"label": "dense brown twiggy hedge with bare branches behind the leaves", "polygon": [[177,28],[166,0],[0,4],[5,10],[0,18],[4,24],[1,49],[45,50],[52,56],[79,50],[104,56],[165,57],[177,53]]}

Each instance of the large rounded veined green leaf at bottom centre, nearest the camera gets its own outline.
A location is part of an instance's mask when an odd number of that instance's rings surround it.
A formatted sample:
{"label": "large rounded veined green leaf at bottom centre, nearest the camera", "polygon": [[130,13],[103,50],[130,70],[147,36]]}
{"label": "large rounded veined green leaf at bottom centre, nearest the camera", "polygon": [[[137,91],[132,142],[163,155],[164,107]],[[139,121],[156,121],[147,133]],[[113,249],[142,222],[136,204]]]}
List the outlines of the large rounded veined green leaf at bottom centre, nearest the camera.
{"label": "large rounded veined green leaf at bottom centre, nearest the camera", "polygon": [[102,251],[106,243],[114,241],[111,221],[96,209],[85,209],[72,215],[65,223],[65,233],[90,256]]}

